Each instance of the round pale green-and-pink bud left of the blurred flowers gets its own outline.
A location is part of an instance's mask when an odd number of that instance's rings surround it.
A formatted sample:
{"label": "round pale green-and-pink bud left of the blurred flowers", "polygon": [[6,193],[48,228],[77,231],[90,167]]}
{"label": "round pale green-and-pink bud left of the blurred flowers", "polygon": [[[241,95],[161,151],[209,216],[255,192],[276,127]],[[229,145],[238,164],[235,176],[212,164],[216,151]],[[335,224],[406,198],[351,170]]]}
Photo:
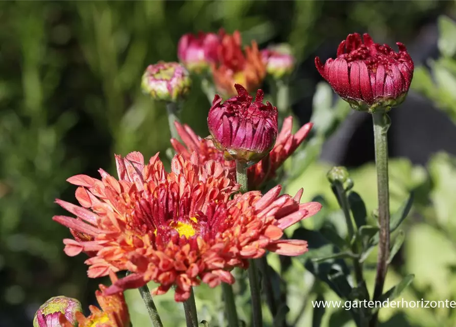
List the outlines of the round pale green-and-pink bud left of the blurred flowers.
{"label": "round pale green-and-pink bud left of the blurred flowers", "polygon": [[142,75],[142,91],[155,100],[176,102],[188,94],[190,86],[187,69],[177,62],[149,65]]}

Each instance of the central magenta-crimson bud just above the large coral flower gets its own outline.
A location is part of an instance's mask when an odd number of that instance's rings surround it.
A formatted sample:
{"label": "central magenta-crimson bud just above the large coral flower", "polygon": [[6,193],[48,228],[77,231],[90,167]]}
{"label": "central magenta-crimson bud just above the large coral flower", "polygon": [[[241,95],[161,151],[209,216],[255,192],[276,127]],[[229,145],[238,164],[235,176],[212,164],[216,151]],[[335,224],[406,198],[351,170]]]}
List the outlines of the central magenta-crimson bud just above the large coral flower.
{"label": "central magenta-crimson bud just above the large coral flower", "polygon": [[247,90],[234,84],[237,96],[222,103],[215,95],[207,125],[212,141],[227,160],[258,162],[267,155],[277,138],[277,108],[263,104],[264,93],[258,90],[252,102]]}

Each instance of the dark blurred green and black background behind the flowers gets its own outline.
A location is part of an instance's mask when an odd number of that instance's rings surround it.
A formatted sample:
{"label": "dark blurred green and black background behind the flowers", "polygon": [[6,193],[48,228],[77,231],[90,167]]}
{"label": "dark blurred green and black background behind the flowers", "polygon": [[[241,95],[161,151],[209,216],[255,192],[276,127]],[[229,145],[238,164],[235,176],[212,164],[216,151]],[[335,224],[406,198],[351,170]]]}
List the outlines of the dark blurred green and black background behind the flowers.
{"label": "dark blurred green and black background behind the flowers", "polygon": [[[314,66],[335,55],[352,32],[378,43],[403,42],[415,64],[439,56],[437,18],[450,0],[195,0],[0,2],[0,325],[30,325],[47,298],[93,301],[99,281],[83,256],[64,255],[69,236],[52,221],[55,198],[74,201],[65,182],[100,167],[113,153],[145,156],[169,147],[164,108],[140,92],[143,69],[177,60],[187,32],[239,30],[247,44],[289,42],[299,62],[293,109],[301,123],[321,81]],[[455,36],[456,37],[456,36]],[[299,95],[299,96],[298,96]],[[207,134],[207,99],[195,85],[184,122]],[[456,153],[456,129],[433,103],[411,92],[391,113],[392,156],[425,164],[438,150]],[[358,113],[324,147],[323,159],[357,167],[373,160],[370,117]]]}

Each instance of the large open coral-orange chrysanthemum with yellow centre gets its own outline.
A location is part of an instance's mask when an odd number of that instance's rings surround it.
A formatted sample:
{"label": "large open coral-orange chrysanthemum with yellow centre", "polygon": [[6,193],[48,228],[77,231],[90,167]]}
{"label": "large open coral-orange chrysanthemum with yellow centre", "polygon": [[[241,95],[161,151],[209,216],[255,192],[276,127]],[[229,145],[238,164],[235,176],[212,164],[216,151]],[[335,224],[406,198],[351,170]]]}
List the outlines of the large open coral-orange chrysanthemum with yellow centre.
{"label": "large open coral-orange chrysanthemum with yellow centre", "polygon": [[86,261],[89,277],[129,270],[104,290],[105,295],[137,288],[149,281],[163,294],[175,286],[176,301],[184,301],[192,286],[234,283],[233,267],[267,250],[299,255],[302,240],[281,240],[282,230],[319,211],[319,203],[299,204],[279,196],[280,186],[266,195],[248,192],[229,197],[238,189],[217,161],[199,162],[198,155],[177,155],[166,173],[158,154],[149,164],[138,152],[116,156],[118,180],[100,170],[102,179],[77,175],[81,206],[57,200],[78,218],[55,216],[62,225],[83,232],[89,241],[64,240],[65,252],[97,251]]}

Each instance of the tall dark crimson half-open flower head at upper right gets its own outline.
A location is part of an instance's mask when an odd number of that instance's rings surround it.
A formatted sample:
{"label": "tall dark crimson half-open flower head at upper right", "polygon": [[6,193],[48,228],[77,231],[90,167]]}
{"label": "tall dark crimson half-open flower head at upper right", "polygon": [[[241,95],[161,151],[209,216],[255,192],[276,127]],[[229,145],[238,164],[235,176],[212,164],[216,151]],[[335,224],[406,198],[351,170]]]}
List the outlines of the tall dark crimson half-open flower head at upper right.
{"label": "tall dark crimson half-open flower head at upper right", "polygon": [[323,65],[315,58],[321,76],[356,110],[391,109],[402,103],[413,77],[413,60],[402,43],[399,52],[389,45],[374,43],[364,34],[349,34],[339,44],[336,59]]}

